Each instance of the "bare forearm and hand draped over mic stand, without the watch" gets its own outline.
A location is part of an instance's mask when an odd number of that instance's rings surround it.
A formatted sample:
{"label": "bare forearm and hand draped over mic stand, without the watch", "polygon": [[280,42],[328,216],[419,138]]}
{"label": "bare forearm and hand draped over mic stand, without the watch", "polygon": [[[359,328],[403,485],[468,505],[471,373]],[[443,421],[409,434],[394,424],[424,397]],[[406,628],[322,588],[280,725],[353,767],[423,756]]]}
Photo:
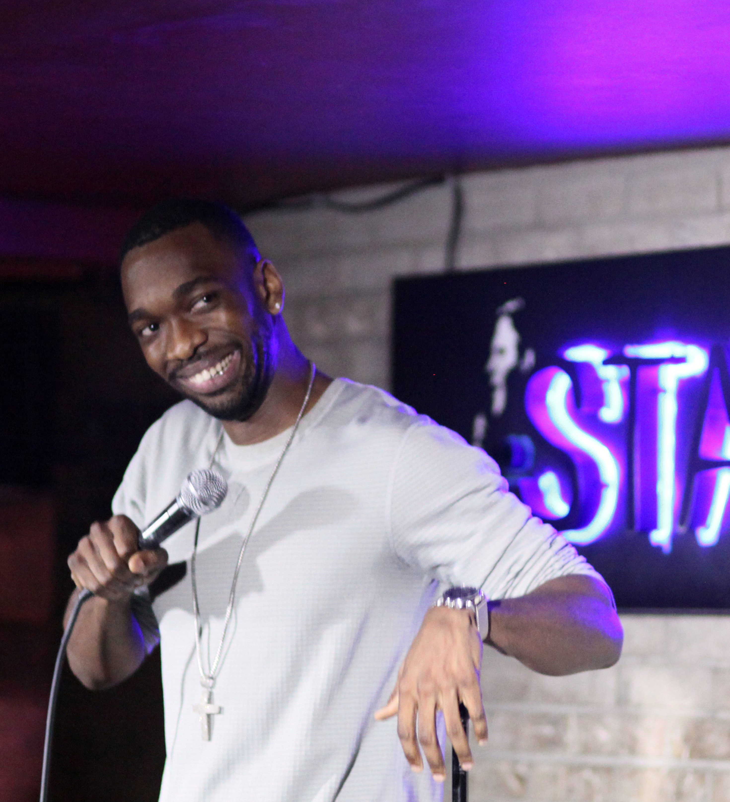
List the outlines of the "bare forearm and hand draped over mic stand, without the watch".
{"label": "bare forearm and hand draped over mic stand, without the watch", "polygon": [[[500,599],[490,607],[489,643],[541,674],[563,676],[608,668],[618,660],[622,642],[613,597],[596,577],[556,577],[525,596]],[[474,734],[484,743],[481,650],[481,637],[468,610],[428,610],[391,698],[375,713],[376,719],[398,714],[398,735],[414,771],[423,768],[420,743],[434,779],[444,779],[444,759],[436,740],[439,709],[444,711],[446,731],[461,768],[471,768],[459,702],[467,707]]]}

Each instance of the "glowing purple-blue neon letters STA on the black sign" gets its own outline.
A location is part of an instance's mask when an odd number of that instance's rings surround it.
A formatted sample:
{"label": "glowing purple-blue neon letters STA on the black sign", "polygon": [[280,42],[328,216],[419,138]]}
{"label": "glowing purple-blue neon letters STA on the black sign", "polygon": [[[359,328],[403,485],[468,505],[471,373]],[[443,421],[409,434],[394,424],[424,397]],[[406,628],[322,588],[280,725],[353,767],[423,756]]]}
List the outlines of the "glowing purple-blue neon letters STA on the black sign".
{"label": "glowing purple-blue neon letters STA on the black sign", "polygon": [[521,480],[525,500],[551,520],[571,514],[578,525],[563,534],[579,545],[614,529],[646,532],[664,553],[689,529],[700,546],[716,545],[730,501],[722,346],[582,343],[562,358],[530,377],[525,411],[572,473],[538,460],[537,479]]}

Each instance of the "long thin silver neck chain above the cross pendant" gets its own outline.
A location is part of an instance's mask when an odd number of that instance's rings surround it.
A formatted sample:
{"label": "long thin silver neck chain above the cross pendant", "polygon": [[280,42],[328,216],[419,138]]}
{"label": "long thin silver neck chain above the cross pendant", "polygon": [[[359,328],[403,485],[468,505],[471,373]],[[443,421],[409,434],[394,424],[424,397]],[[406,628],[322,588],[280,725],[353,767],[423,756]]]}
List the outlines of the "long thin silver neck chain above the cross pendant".
{"label": "long thin silver neck chain above the cross pendant", "polygon": [[[197,667],[201,674],[201,685],[204,688],[207,688],[209,691],[213,689],[215,685],[216,679],[219,674],[219,664],[221,662],[221,654],[223,654],[223,645],[225,643],[225,635],[228,632],[228,625],[233,615],[233,605],[236,600],[236,585],[238,582],[238,574],[241,571],[241,563],[243,562],[243,554],[245,552],[245,547],[248,545],[250,537],[253,533],[253,528],[256,526],[256,521],[258,520],[258,516],[262,511],[262,507],[264,506],[264,502],[266,501],[266,496],[269,495],[269,490],[271,485],[274,483],[274,477],[277,475],[279,466],[282,464],[282,460],[284,456],[286,456],[286,452],[289,451],[289,447],[294,440],[294,435],[297,433],[297,429],[299,427],[299,421],[302,420],[302,415],[304,415],[304,410],[306,409],[306,405],[309,403],[310,396],[312,394],[312,387],[314,385],[314,375],[317,372],[317,368],[313,362],[310,361],[310,378],[309,384],[306,387],[306,395],[304,396],[304,400],[302,401],[302,407],[299,410],[299,414],[297,415],[297,419],[294,421],[294,426],[292,427],[291,433],[289,437],[286,439],[286,444],[284,448],[282,448],[281,454],[279,454],[279,458],[274,465],[274,470],[271,472],[269,476],[269,481],[266,482],[266,488],[264,488],[264,492],[262,493],[261,499],[258,502],[258,507],[256,508],[256,512],[253,513],[253,518],[251,519],[251,523],[249,524],[249,529],[245,534],[243,539],[243,543],[241,543],[241,549],[238,551],[238,560],[236,562],[236,570],[233,572],[233,581],[231,582],[231,590],[229,593],[228,598],[228,606],[225,608],[225,621],[223,623],[223,634],[221,634],[221,642],[218,644],[218,649],[216,652],[215,659],[213,663],[210,665],[210,669],[205,671],[203,668],[203,658],[202,658],[202,650],[201,650],[201,638],[202,638],[202,626],[201,626],[201,611],[200,606],[198,603],[197,597],[197,581],[195,575],[195,563],[197,557],[197,540],[198,534],[200,533],[200,526],[201,526],[201,519],[198,518],[197,526],[195,529],[195,541],[193,543],[193,557],[190,560],[190,580],[191,584],[193,585],[193,613],[195,614],[195,652],[197,654]],[[217,454],[218,448],[220,448],[221,443],[223,441],[223,433],[221,431],[221,438],[218,440],[218,444],[216,446],[215,452],[213,452],[213,460]],[[213,461],[211,460],[211,462]]]}

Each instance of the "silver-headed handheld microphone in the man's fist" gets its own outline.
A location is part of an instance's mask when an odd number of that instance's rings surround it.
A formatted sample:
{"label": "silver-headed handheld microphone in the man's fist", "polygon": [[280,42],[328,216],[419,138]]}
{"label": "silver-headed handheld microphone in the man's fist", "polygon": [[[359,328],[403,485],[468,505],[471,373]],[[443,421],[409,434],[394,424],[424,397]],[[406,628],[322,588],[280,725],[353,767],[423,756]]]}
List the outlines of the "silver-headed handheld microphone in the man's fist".
{"label": "silver-headed handheld microphone in the man's fist", "polygon": [[220,473],[209,468],[189,473],[177,496],[140,532],[137,545],[140,549],[156,549],[189,520],[220,507],[227,492],[228,484]]}

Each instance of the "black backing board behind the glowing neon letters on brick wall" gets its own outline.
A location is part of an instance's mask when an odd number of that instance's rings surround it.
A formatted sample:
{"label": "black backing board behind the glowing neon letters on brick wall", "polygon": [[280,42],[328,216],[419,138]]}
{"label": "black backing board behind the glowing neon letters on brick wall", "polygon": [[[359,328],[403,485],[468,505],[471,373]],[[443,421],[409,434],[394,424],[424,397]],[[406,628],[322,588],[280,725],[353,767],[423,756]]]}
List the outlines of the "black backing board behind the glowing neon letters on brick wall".
{"label": "black backing board behind the glowing neon letters on brick wall", "polygon": [[[537,351],[536,370],[574,366],[558,350],[598,342],[620,350],[630,342],[679,339],[710,346],[730,338],[730,249],[713,248],[646,256],[497,269],[395,282],[393,391],[420,412],[472,438],[472,420],[489,409],[485,363],[497,307],[525,299],[514,315],[521,349]],[[524,410],[526,377],[510,376],[509,406],[490,425],[485,450],[509,470],[505,435],[529,433],[538,451],[547,444]],[[577,384],[574,375],[574,386]],[[680,405],[678,431],[689,439],[696,408]],[[680,435],[682,436],[682,435]],[[679,438],[678,438],[679,441]],[[683,472],[678,450],[677,470]],[[679,493],[679,500],[681,494]],[[619,496],[617,520],[622,514]],[[571,516],[558,529],[577,525]],[[623,610],[730,609],[730,537],[701,548],[692,532],[675,535],[670,554],[646,533],[611,533],[579,551],[606,577]]]}

